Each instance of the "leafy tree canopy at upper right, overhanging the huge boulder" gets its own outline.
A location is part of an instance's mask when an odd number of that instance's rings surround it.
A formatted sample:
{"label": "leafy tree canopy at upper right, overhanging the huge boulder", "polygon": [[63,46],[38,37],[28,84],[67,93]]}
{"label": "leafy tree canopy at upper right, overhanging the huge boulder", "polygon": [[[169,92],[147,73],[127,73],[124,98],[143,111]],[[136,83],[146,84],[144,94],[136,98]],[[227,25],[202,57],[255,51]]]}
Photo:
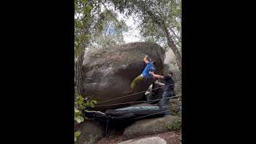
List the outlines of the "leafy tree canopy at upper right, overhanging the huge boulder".
{"label": "leafy tree canopy at upper right, overhanging the huge boulder", "polygon": [[[141,23],[141,34],[148,42],[167,45],[165,26],[175,45],[182,46],[181,0],[111,0],[116,9],[134,16]],[[169,46],[170,47],[170,46]]]}

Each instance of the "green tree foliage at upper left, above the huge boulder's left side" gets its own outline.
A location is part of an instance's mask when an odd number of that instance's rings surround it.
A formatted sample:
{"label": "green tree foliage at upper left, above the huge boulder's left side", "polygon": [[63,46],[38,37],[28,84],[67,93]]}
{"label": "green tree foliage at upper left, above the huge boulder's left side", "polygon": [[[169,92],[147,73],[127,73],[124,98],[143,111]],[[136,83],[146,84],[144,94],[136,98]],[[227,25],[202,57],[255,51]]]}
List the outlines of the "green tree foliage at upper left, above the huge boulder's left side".
{"label": "green tree foliage at upper left, above the huge boulder's left side", "polygon": [[[110,10],[102,0],[75,0],[74,58],[83,54],[86,47],[107,47],[123,44],[126,22],[118,20],[118,14]],[[109,28],[114,34],[106,34]]]}

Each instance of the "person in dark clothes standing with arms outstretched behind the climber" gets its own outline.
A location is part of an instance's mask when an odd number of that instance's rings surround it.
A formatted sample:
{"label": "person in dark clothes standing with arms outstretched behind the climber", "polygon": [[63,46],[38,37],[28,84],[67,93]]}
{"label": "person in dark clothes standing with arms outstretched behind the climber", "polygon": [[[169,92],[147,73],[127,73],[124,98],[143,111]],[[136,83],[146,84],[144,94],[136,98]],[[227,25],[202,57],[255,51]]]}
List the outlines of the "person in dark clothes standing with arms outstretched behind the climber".
{"label": "person in dark clothes standing with arms outstretched behind the climber", "polygon": [[168,106],[168,99],[174,96],[174,80],[172,78],[173,72],[166,71],[163,75],[154,74],[154,72],[149,72],[154,78],[163,79],[164,87],[162,100],[160,101],[160,108],[166,110],[166,115],[170,115],[170,108]]}

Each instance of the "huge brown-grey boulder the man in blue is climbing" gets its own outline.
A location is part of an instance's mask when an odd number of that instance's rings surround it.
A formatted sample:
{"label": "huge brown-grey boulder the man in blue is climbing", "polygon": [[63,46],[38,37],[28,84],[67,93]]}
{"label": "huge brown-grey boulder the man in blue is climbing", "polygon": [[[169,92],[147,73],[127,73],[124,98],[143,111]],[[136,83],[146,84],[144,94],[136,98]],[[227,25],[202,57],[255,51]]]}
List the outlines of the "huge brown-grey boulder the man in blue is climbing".
{"label": "huge brown-grey boulder the man in blue is climbing", "polygon": [[[111,46],[104,49],[86,50],[82,66],[82,95],[87,98],[109,105],[119,102],[134,102],[143,97],[144,93],[127,95],[130,83],[142,73],[146,66],[145,55],[156,62],[156,74],[161,74],[164,68],[165,50],[152,42],[133,42],[121,46]],[[139,84],[134,93],[147,90],[153,79],[147,79]],[[112,98],[114,101],[103,102]],[[124,106],[124,105],[120,105]],[[114,109],[120,106],[100,106],[96,110]]]}

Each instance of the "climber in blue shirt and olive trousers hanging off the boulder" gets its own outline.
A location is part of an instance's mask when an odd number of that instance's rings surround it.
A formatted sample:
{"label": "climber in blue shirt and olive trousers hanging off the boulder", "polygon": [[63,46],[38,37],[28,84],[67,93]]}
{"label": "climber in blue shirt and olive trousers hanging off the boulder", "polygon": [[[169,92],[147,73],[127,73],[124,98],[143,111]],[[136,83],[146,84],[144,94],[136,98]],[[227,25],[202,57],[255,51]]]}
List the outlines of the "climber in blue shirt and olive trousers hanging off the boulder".
{"label": "climber in blue shirt and olive trousers hanging off the boulder", "polygon": [[152,75],[150,75],[149,72],[150,71],[154,72],[154,70],[155,70],[154,69],[154,62],[147,55],[145,56],[143,61],[146,63],[146,67],[142,71],[142,74],[138,75],[138,77],[134,78],[133,82],[131,82],[129,94],[133,94],[134,93],[135,86],[137,86],[138,83],[141,82],[143,79],[145,79],[145,78],[152,78]]}

